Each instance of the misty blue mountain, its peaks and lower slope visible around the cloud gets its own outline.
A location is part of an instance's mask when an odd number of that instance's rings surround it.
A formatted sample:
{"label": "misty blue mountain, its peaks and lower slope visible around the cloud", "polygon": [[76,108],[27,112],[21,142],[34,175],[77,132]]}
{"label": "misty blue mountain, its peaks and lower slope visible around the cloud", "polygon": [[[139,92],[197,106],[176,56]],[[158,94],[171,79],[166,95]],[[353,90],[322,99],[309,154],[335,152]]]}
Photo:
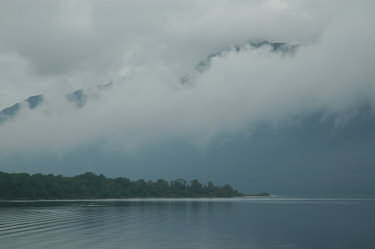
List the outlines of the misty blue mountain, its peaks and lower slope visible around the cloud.
{"label": "misty blue mountain, its peaks and lower slope visible around the cloud", "polygon": [[[213,53],[200,61],[180,83],[193,85],[212,60],[228,52],[269,49],[293,54],[297,45],[249,42]],[[98,86],[111,87],[112,82]],[[65,95],[77,109],[88,94]],[[43,104],[44,95],[27,98],[0,111],[0,124],[14,118],[22,105]],[[136,152],[103,149],[103,141],[75,148],[63,157],[49,153],[5,155],[1,170],[76,175],[85,171],[133,179],[199,178],[230,183],[242,192],[267,191],[291,196],[375,197],[375,109],[370,103],[341,112],[326,109],[291,115],[277,123],[249,124],[238,133],[219,134],[198,148],[179,138],[150,143]],[[105,146],[104,146],[105,147]]]}

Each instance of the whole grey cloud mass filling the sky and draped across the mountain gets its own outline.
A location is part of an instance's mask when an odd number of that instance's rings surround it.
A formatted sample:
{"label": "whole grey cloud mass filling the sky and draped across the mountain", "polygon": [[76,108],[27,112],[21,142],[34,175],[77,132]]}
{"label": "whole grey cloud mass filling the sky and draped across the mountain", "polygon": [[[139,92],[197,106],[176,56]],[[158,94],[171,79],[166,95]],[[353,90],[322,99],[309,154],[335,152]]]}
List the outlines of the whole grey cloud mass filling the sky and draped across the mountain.
{"label": "whole grey cloud mass filling the sky and draped across the mountain", "polygon": [[[39,86],[45,101],[0,126],[0,149],[64,153],[102,141],[129,152],[171,138],[205,145],[260,121],[373,104],[373,4],[340,3],[38,1],[25,2],[27,12],[3,1],[0,58],[13,51],[27,62],[15,84],[23,95]],[[245,45],[263,39],[299,47]],[[192,87],[180,84],[225,49]],[[108,91],[95,87],[109,80]],[[77,89],[88,94],[79,110],[64,97]]]}

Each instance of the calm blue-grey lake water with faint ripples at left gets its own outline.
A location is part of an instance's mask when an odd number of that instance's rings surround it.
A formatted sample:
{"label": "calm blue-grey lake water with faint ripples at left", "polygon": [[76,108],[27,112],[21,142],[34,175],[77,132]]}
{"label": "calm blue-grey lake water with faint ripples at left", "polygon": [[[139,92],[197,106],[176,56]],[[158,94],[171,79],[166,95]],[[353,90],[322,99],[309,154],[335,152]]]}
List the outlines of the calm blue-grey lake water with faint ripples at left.
{"label": "calm blue-grey lake water with faint ripples at left", "polygon": [[375,248],[375,200],[0,202],[1,249]]}

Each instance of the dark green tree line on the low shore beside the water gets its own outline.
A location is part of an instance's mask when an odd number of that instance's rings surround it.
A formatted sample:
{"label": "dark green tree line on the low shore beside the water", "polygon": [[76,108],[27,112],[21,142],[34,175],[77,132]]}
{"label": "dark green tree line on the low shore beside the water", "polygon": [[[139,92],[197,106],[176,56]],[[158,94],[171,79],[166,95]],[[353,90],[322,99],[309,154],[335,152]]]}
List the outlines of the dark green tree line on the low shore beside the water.
{"label": "dark green tree line on the low shore beside the water", "polygon": [[[259,195],[268,195],[262,193]],[[74,177],[0,172],[0,199],[100,199],[134,197],[235,197],[244,196],[230,185],[204,185],[194,179],[131,181],[87,172]]]}

